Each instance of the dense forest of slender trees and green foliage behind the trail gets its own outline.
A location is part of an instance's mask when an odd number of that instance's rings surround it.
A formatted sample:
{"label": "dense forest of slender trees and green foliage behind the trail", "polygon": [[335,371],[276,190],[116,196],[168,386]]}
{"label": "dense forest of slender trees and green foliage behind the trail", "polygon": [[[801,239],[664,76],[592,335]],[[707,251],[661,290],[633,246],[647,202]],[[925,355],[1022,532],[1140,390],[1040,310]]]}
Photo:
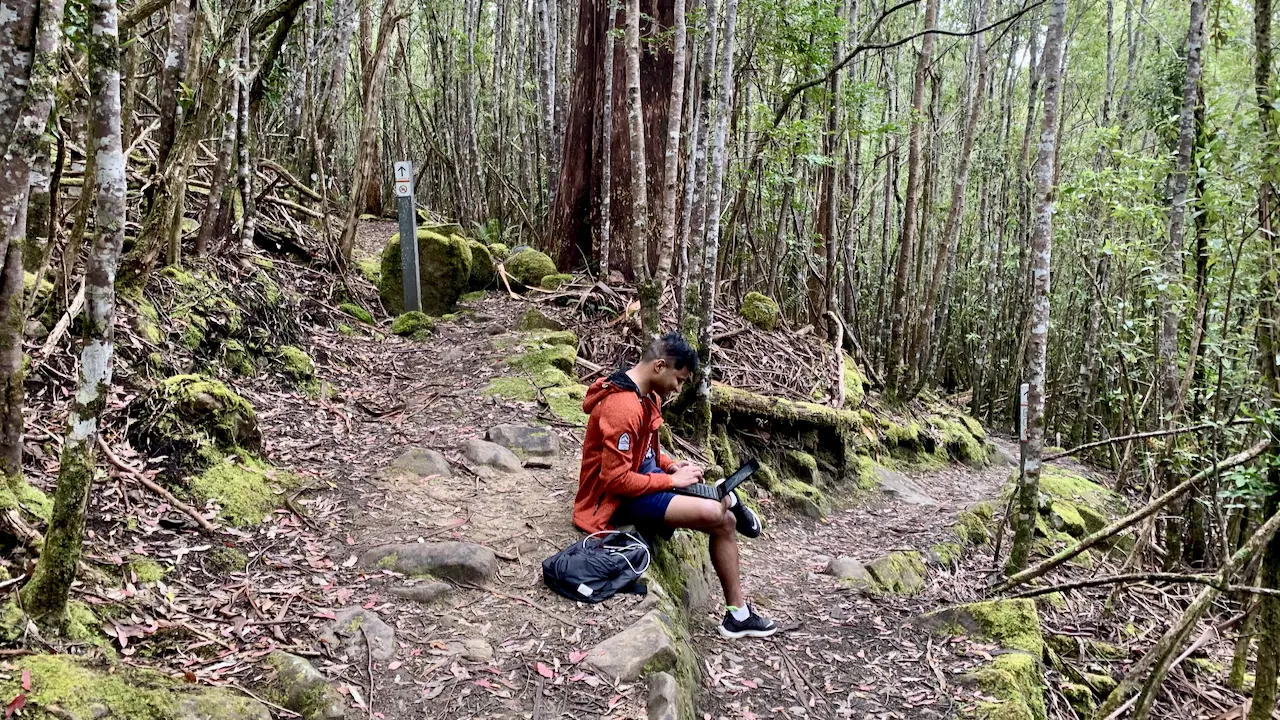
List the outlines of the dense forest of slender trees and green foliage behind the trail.
{"label": "dense forest of slender trees and green foliage behind the trail", "polygon": [[[988,589],[1135,528],[1115,583],[1203,588],[1097,717],[1146,717],[1201,619],[1236,612],[1230,684],[1249,691],[1252,662],[1247,716],[1270,717],[1274,15],[1271,0],[0,4],[0,507],[33,555],[6,592],[65,626],[120,402],[118,314],[166,269],[264,252],[337,278],[317,302],[355,301],[358,234],[396,218],[392,167],[411,160],[420,222],[622,292],[630,341],[694,341],[675,404],[689,447],[714,441],[713,383],[750,372],[713,351],[741,337],[723,311],[760,302],[769,331],[835,348],[886,407],[948,402],[1021,434]],[[515,282],[493,258],[490,287]],[[32,323],[58,329],[33,340]],[[44,360],[68,333],[74,382]],[[24,416],[50,380],[67,407],[40,519]],[[810,395],[841,409],[846,388]],[[1068,455],[1142,510],[1037,561],[1042,466]]]}

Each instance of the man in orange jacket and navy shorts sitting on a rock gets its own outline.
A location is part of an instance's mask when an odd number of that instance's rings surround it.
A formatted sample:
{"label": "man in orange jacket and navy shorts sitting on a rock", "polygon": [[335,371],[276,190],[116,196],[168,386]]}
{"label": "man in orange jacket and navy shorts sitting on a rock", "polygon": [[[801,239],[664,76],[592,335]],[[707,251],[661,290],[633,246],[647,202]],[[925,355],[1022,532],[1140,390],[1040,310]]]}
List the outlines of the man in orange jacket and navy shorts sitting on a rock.
{"label": "man in orange jacket and navy shorts sitting on a rock", "polygon": [[654,341],[640,363],[591,384],[582,401],[590,415],[573,524],[588,533],[635,525],[645,536],[669,537],[675,528],[710,536],[712,565],[724,591],[719,624],[726,638],[764,638],[777,630],[742,600],[737,533],[754,538],[760,520],[736,491],[721,502],[672,492],[703,478],[701,468],[662,452],[662,401],[680,392],[698,369],[698,355],[677,333]]}

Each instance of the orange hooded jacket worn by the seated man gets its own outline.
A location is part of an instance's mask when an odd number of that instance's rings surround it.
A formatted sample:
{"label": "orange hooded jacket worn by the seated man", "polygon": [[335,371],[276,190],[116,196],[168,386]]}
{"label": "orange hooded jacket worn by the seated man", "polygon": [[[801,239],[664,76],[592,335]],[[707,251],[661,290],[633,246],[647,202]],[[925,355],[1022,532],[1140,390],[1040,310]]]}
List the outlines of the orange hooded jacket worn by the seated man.
{"label": "orange hooded jacket worn by the seated man", "polygon": [[582,411],[590,418],[573,498],[573,525],[595,533],[613,528],[609,518],[622,498],[672,489],[666,471],[640,473],[650,448],[658,468],[669,470],[673,461],[658,442],[662,398],[654,393],[641,397],[626,372],[591,383]]}

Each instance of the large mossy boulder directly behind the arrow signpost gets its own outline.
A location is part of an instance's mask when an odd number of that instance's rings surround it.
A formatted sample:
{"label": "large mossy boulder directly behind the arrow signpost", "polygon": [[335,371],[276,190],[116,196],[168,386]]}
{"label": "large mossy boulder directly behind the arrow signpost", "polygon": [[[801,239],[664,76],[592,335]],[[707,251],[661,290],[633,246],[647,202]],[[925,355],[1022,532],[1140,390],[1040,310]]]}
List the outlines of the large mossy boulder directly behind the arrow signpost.
{"label": "large mossy boulder directly behind the arrow signpost", "polygon": [[[443,315],[453,309],[458,297],[471,284],[471,247],[461,236],[444,236],[429,229],[417,231],[419,288],[422,311]],[[401,265],[401,237],[392,236],[383,249],[381,282],[378,287],[383,304],[392,314],[404,311],[404,282]]]}

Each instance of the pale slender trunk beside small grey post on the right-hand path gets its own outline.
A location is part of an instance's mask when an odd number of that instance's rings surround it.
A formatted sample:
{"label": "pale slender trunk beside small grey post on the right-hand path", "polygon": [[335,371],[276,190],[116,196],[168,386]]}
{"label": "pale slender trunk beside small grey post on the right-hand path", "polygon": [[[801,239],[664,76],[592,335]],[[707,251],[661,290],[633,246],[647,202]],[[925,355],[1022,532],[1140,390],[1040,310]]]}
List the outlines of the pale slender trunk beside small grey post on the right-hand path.
{"label": "pale slender trunk beside small grey post on the right-hand path", "polygon": [[1014,544],[1009,570],[1027,566],[1036,533],[1038,510],[1041,455],[1044,448],[1044,378],[1048,355],[1050,256],[1053,249],[1053,168],[1057,156],[1057,113],[1062,96],[1062,53],[1066,40],[1066,0],[1053,0],[1048,32],[1044,36],[1044,118],[1041,126],[1039,150],[1036,154],[1036,232],[1032,234],[1032,328],[1027,343],[1027,462],[1018,488],[1018,516],[1014,521]]}

